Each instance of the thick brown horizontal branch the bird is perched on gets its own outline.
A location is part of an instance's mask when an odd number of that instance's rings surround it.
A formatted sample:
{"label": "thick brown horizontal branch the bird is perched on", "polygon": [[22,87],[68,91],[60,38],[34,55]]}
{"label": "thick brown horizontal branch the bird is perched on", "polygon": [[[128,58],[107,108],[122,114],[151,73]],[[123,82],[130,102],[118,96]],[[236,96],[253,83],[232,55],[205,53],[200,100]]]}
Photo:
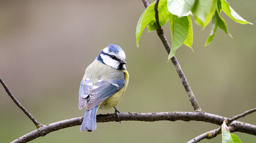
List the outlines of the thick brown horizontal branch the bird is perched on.
{"label": "thick brown horizontal branch the bird is perched on", "polygon": [[[76,117],[73,119],[62,120],[59,122],[51,123],[49,125],[43,125],[39,129],[33,130],[26,135],[14,140],[13,142],[28,142],[40,136],[45,136],[47,133],[69,128],[72,126],[81,125],[83,117]],[[183,120],[188,121],[201,121],[207,123],[213,123],[216,125],[222,125],[226,117],[221,117],[215,114],[204,113],[204,112],[160,112],[160,113],[119,113],[120,121],[144,121],[144,122],[155,122],[160,120],[176,121]],[[115,114],[99,114],[97,115],[97,122],[119,122]],[[230,128],[234,128],[234,132],[245,132],[251,135],[256,135],[256,126],[248,123],[234,121]]]}

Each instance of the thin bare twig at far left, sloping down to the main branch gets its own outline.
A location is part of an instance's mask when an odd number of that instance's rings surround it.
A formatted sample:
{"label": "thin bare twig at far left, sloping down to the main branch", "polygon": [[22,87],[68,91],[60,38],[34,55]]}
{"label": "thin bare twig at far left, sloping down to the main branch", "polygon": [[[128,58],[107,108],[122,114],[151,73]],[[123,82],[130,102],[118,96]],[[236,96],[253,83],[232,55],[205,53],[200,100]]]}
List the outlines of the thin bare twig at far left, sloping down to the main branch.
{"label": "thin bare twig at far left, sloping down to the main branch", "polygon": [[32,122],[35,124],[35,126],[37,128],[40,128],[41,124],[39,122],[37,122],[37,120],[35,120],[35,118],[32,116],[32,114],[29,113],[29,111],[26,110],[26,108],[23,107],[23,105],[20,104],[20,102],[18,100],[16,100],[16,98],[13,96],[13,94],[11,94],[11,91],[8,89],[7,85],[5,85],[4,80],[2,80],[1,77],[0,77],[0,82],[2,83],[2,86],[4,86],[4,89],[7,92],[7,94],[10,96],[10,98],[13,100],[13,102],[15,102],[17,107],[19,107],[26,114],[26,116],[28,116],[29,119],[32,120]]}

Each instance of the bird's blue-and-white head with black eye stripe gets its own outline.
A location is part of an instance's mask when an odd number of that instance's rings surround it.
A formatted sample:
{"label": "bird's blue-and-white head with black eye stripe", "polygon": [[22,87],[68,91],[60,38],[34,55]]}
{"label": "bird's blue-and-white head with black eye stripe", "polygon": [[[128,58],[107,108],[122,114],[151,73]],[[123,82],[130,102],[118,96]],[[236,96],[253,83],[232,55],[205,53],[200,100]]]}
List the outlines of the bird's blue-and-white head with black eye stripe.
{"label": "bird's blue-and-white head with black eye stripe", "polygon": [[125,58],[125,52],[120,46],[110,44],[100,52],[96,59],[116,70],[126,70]]}

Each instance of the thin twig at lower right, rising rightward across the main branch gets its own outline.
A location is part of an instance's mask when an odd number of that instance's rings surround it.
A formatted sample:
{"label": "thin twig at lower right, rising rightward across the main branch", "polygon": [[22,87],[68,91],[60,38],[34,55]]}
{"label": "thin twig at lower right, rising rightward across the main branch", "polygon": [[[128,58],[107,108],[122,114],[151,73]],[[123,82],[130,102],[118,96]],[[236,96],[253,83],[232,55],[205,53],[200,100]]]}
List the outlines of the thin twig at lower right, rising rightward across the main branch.
{"label": "thin twig at lower right, rising rightward across the main branch", "polygon": [[[234,124],[236,124],[236,123],[231,123],[231,122],[233,122],[234,120],[239,119],[240,117],[244,117],[244,116],[246,116],[248,114],[254,113],[255,111],[256,111],[256,108],[252,108],[251,110],[247,110],[244,113],[239,114],[237,116],[234,116],[231,119],[225,119],[225,120],[228,121],[227,122],[227,126],[230,125],[228,127],[230,132],[236,132],[236,128],[234,128]],[[256,130],[254,132],[256,132]],[[187,143],[195,143],[195,142],[199,142],[199,141],[201,141],[203,139],[212,139],[212,138],[215,138],[219,134],[221,134],[221,126],[218,129],[210,130],[209,132],[202,133],[201,135],[198,135],[197,137],[191,139]]]}

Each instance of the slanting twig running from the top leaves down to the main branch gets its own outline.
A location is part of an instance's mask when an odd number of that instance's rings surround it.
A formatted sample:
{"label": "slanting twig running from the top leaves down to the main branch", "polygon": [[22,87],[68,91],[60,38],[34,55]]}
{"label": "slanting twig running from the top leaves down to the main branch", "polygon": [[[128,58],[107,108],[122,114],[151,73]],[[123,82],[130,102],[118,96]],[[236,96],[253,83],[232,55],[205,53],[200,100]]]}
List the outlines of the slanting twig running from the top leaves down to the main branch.
{"label": "slanting twig running from the top leaves down to the main branch", "polygon": [[[155,2],[156,33],[159,36],[159,38],[161,39],[162,44],[164,45],[167,53],[170,54],[170,51],[171,51],[170,44],[168,43],[167,38],[164,35],[164,30],[162,30],[162,28],[159,24],[158,3],[159,3],[159,0],[156,0],[156,2]],[[180,80],[182,81],[182,85],[184,86],[186,93],[188,94],[189,101],[191,102],[192,107],[194,108],[195,111],[202,111],[200,108],[200,105],[198,104],[197,100],[195,99],[195,95],[194,95],[191,87],[189,86],[188,80],[186,80],[186,76],[183,73],[183,71],[180,67],[180,64],[177,61],[177,58],[175,57],[175,55],[171,58],[171,62],[173,63],[177,73],[179,74]]]}

